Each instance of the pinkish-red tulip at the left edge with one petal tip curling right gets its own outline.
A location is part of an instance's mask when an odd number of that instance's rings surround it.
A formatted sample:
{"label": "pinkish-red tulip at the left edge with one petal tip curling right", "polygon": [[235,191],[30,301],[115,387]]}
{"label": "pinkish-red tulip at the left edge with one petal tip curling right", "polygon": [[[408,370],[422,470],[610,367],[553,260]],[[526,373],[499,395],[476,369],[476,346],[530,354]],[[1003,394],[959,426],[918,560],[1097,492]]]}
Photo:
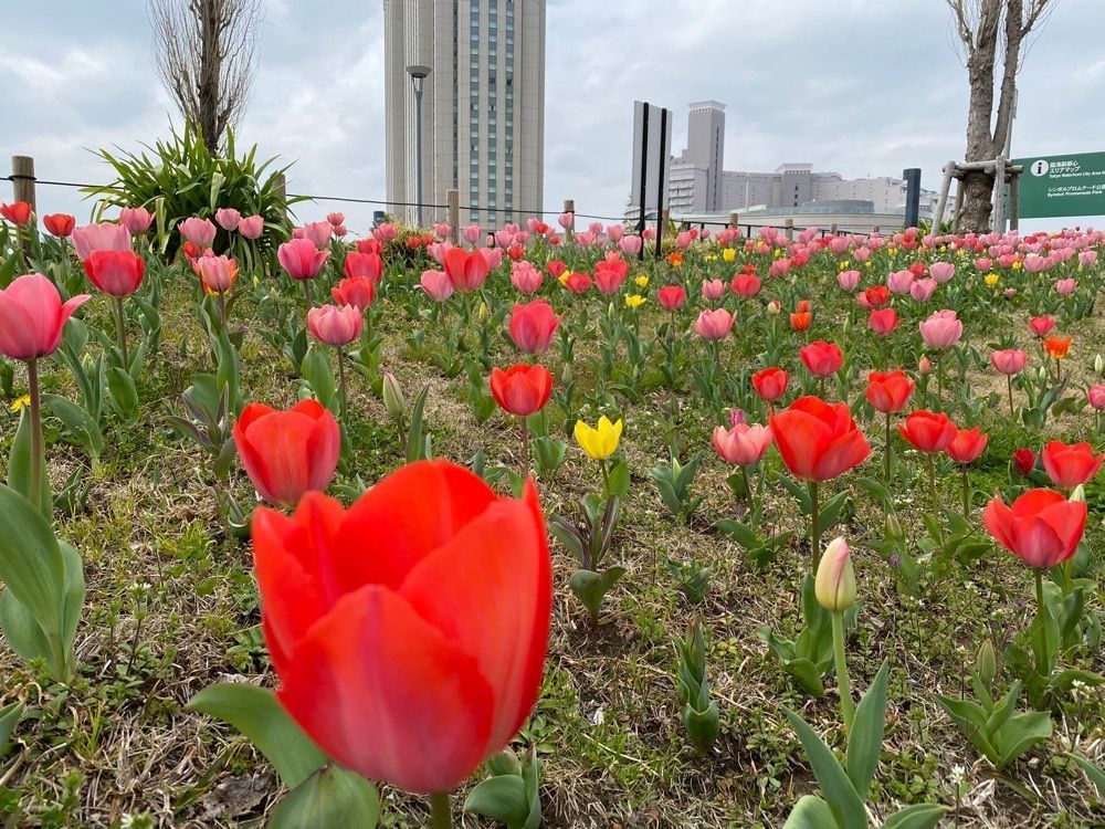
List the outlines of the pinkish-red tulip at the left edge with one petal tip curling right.
{"label": "pinkish-red tulip at the left edge with one petal tip curling right", "polygon": [[17,276],[0,291],[0,354],[33,360],[57,350],[62,328],[88,294],[62,303],[54,283],[41,273]]}

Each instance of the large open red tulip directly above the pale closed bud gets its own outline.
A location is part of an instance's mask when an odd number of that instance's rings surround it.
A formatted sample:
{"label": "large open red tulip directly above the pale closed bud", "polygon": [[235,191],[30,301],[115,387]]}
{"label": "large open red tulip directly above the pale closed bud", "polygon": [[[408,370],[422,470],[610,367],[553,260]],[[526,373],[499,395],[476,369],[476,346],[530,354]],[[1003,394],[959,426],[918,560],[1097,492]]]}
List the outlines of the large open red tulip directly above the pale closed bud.
{"label": "large open red tulip directly above the pale closed bud", "polygon": [[790,473],[802,481],[828,481],[871,454],[846,403],[801,397],[771,416],[771,434]]}

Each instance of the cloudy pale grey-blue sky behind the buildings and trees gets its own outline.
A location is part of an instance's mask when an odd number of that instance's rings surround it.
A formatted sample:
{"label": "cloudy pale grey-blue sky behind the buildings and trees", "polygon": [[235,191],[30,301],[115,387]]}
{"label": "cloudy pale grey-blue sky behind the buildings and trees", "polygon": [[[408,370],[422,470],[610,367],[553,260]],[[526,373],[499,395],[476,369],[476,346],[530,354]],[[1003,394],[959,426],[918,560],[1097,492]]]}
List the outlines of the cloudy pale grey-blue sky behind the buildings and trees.
{"label": "cloudy pale grey-blue sky behind the buildings and trees", "polygon": [[[1105,150],[1105,0],[1056,2],[1021,74],[1014,155]],[[265,6],[240,141],[294,160],[294,192],[383,198],[381,0]],[[687,103],[726,104],[727,169],[922,167],[937,189],[943,162],[962,157],[967,111],[949,21],[943,0],[548,0],[545,206],[621,213],[634,98],[675,112],[676,153]],[[102,182],[109,170],[88,150],[167,135],[178,116],[150,42],[145,0],[4,3],[0,169],[32,155],[40,178]],[[90,211],[57,188],[39,202]],[[350,230],[371,220],[367,206],[298,212],[335,209]]]}

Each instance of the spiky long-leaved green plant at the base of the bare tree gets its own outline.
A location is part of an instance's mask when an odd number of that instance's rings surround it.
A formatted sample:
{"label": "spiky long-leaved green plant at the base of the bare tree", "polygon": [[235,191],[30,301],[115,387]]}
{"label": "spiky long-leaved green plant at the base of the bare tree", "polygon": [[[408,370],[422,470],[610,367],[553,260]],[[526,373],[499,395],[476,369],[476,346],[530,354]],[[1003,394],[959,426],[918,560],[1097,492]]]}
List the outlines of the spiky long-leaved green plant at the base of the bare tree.
{"label": "spiky long-leaved green plant at the base of the bare tree", "polygon": [[[110,185],[86,188],[96,197],[93,217],[98,221],[109,208],[144,207],[157,218],[151,229],[156,250],[171,258],[180,244],[176,232],[181,219],[190,216],[214,219],[219,208],[234,208],[242,216],[263,216],[265,232],[254,243],[261,255],[270,255],[276,244],[288,238],[288,208],[306,197],[286,198],[281,193],[281,177],[291,165],[276,167],[276,158],[257,160],[257,145],[238,156],[233,130],[227,132],[227,149],[211,157],[203,138],[194,127],[185,124],[182,132],[172,130],[168,140],[154,146],[143,145],[138,153],[101,149],[97,155],[115,170]],[[219,229],[217,252],[227,251],[233,241]],[[236,235],[236,234],[234,234]],[[236,240],[244,243],[244,240]]]}

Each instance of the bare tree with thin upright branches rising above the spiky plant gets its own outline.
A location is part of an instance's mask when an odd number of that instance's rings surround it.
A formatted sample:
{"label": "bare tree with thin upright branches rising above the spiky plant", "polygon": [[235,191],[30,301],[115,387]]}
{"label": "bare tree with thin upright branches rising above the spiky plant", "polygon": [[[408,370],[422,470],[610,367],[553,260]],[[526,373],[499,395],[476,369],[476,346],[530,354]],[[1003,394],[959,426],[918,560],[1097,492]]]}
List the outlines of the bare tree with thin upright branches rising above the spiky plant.
{"label": "bare tree with thin upright branches rising above the spiky plant", "polygon": [[211,155],[249,103],[263,11],[261,0],[149,0],[157,73]]}

